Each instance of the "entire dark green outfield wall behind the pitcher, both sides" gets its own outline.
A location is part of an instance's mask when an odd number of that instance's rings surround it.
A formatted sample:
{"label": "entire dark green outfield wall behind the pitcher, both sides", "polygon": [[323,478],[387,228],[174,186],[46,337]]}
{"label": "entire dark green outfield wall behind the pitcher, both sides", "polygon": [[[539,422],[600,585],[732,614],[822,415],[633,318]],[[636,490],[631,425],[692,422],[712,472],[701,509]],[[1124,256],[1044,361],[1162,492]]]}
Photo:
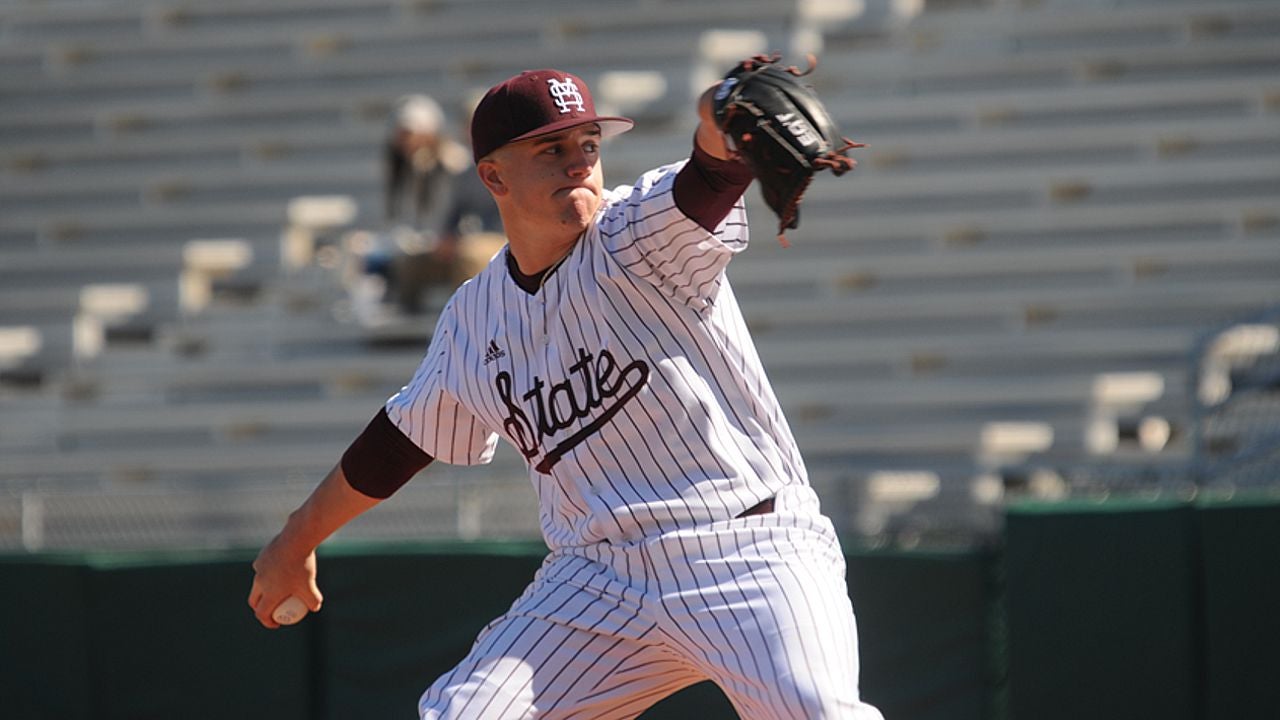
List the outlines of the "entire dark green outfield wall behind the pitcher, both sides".
{"label": "entire dark green outfield wall behind the pitcher, both sides", "polygon": [[[863,693],[888,720],[1271,717],[1280,501],[1021,506],[1001,550],[847,543]],[[14,720],[415,717],[538,543],[334,543],[321,612],[261,629],[252,551],[0,557]],[[695,685],[645,720],[736,717]]]}

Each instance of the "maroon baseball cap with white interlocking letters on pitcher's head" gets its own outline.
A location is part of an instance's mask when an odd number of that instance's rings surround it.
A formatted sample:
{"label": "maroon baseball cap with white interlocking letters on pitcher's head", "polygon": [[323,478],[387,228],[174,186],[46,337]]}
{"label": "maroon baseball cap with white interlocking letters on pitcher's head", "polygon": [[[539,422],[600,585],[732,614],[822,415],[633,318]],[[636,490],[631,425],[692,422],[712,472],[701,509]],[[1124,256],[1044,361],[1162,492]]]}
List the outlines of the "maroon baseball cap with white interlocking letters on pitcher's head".
{"label": "maroon baseball cap with white interlocking letters on pitcher's head", "polygon": [[525,70],[495,85],[471,115],[471,151],[481,158],[508,142],[598,123],[604,137],[631,129],[627,118],[595,114],[582,78],[561,70]]}

